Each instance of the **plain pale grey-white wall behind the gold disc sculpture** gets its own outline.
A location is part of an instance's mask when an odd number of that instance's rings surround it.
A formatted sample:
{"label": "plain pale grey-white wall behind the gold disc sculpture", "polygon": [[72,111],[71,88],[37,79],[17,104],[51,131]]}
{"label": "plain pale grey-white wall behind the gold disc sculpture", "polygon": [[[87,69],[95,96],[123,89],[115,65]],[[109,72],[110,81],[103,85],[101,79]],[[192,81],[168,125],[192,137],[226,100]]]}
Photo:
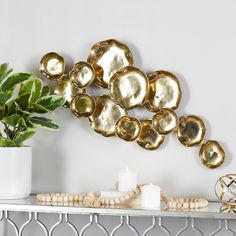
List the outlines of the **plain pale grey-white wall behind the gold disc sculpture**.
{"label": "plain pale grey-white wall behind the gold disc sculpture", "polygon": [[56,112],[60,131],[38,131],[34,146],[33,191],[96,191],[111,188],[129,166],[139,182],[161,185],[169,195],[215,199],[214,184],[235,173],[236,2],[235,0],[0,0],[0,61],[38,74],[48,51],[68,65],[85,60],[93,43],[116,38],[131,48],[135,65],[178,75],[183,98],[178,114],[204,118],[207,138],[222,142],[225,165],[203,167],[196,148],[174,136],[156,151],[104,138],[86,119]]}

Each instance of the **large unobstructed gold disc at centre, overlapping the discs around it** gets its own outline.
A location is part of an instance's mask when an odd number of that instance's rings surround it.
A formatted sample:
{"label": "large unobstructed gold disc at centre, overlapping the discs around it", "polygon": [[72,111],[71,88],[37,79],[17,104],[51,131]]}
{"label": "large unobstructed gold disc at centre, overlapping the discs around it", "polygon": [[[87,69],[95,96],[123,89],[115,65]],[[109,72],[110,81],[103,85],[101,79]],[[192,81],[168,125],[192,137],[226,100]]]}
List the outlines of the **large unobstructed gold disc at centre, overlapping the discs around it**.
{"label": "large unobstructed gold disc at centre, overlapping the discs around it", "polygon": [[148,97],[147,76],[138,68],[127,66],[115,73],[109,83],[111,97],[122,107],[143,105]]}

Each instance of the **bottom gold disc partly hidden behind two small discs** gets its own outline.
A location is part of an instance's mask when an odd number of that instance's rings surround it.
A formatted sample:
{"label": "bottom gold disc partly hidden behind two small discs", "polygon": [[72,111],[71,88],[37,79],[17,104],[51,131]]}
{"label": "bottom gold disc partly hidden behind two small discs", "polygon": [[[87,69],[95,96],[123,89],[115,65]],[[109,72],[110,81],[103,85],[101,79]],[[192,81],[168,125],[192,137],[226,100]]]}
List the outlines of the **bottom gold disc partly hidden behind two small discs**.
{"label": "bottom gold disc partly hidden behind two small discs", "polygon": [[141,132],[137,139],[137,143],[147,150],[154,150],[157,149],[163,142],[164,136],[157,133],[152,128],[152,121],[142,120]]}

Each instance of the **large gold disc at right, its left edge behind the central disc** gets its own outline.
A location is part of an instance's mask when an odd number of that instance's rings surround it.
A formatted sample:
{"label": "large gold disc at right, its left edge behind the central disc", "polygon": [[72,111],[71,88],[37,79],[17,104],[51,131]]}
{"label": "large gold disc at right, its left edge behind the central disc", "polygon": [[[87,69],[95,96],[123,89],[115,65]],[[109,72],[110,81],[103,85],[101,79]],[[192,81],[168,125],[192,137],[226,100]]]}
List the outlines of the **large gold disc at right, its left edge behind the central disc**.
{"label": "large gold disc at right, its left edge behind the central disc", "polygon": [[175,75],[168,71],[156,71],[148,75],[149,96],[146,107],[151,112],[157,112],[162,108],[175,110],[181,100],[181,88]]}

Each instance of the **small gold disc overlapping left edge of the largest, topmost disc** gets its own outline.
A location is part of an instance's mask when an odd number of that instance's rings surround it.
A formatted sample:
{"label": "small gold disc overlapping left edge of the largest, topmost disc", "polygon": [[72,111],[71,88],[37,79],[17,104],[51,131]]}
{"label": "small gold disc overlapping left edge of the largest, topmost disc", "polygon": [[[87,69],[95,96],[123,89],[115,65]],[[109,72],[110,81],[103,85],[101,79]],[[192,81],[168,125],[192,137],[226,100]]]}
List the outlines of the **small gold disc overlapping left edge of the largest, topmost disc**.
{"label": "small gold disc overlapping left edge of the largest, topmost disc", "polygon": [[85,88],[95,79],[95,71],[87,62],[80,61],[74,65],[69,77],[75,87]]}

